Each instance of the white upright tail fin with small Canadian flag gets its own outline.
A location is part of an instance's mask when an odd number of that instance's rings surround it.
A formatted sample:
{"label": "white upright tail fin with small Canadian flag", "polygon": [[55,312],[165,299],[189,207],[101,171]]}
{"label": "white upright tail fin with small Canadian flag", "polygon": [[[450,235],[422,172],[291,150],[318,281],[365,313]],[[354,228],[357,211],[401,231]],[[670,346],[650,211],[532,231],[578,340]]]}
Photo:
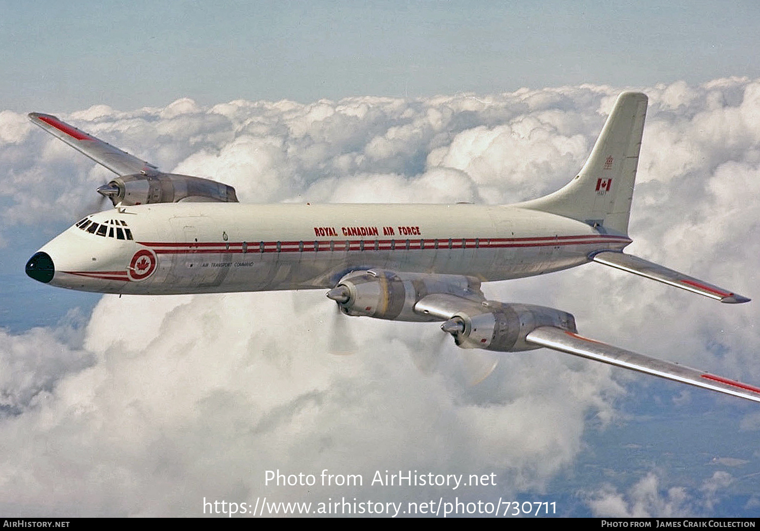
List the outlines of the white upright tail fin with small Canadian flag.
{"label": "white upright tail fin with small Canadian flag", "polygon": [[515,206],[569,217],[600,232],[627,235],[647,101],[643,93],[620,94],[575,179],[553,194]]}

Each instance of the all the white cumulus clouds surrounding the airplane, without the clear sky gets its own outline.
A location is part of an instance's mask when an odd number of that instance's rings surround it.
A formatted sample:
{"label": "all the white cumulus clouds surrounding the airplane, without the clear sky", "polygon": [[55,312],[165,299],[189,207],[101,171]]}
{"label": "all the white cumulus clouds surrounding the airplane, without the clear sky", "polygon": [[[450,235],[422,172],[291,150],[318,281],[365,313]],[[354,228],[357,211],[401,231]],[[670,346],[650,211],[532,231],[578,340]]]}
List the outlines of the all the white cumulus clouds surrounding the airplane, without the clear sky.
{"label": "all the white cumulus clouds surrounding the airplane, without the clear sky", "polygon": [[[61,118],[165,171],[234,185],[241,201],[499,204],[575,175],[618,92],[584,85],[211,108],[182,99]],[[647,92],[631,251],[752,296],[760,207],[746,198],[760,182],[760,81]],[[0,113],[5,242],[20,227],[71,223],[109,179],[25,120]],[[752,305],[716,305],[598,265],[485,290],[572,311],[592,337],[760,381]],[[354,356],[328,353],[334,305],[319,292],[105,296],[77,332],[3,333],[0,505],[6,514],[163,515],[199,514],[204,497],[541,493],[584,451],[587,428],[610,425],[629,399],[616,382],[632,377],[543,350],[503,356],[494,375],[467,387],[460,351],[435,325],[344,319]],[[429,375],[415,368],[420,352],[439,357]],[[681,391],[669,402],[676,410],[697,396]],[[749,417],[743,427],[757,424]],[[365,485],[264,485],[268,469],[323,468],[361,474]],[[495,473],[498,487],[367,486],[377,469]],[[606,485],[587,505],[595,514],[682,514],[708,507],[727,485],[715,474],[686,494],[654,474],[629,491]]]}

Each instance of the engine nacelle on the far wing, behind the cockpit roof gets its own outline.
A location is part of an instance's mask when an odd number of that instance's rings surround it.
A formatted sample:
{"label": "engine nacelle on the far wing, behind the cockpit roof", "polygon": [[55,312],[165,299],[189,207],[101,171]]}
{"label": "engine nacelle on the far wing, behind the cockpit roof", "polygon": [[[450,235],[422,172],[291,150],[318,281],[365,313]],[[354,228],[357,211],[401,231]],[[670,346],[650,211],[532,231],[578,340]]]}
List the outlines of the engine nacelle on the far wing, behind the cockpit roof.
{"label": "engine nacelle on the far wing, behind the cockpit roof", "polygon": [[179,201],[220,201],[236,203],[235,188],[211,179],[176,173],[135,173],[112,179],[97,189],[114,206]]}

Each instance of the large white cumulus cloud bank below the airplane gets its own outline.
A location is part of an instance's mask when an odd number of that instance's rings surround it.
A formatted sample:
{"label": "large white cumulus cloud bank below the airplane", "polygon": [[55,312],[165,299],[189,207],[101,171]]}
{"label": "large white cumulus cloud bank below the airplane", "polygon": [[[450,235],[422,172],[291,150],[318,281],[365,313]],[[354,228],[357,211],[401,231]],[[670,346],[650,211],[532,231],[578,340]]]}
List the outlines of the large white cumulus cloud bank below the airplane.
{"label": "large white cumulus cloud bank below the airplane", "polygon": [[[331,356],[331,305],[321,293],[104,297],[75,351],[94,359],[53,371],[45,400],[4,421],[0,438],[14,448],[2,457],[5,507],[33,510],[27,501],[40,483],[55,485],[46,504],[67,514],[197,514],[204,496],[441,494],[372,487],[377,469],[495,472],[499,491],[514,493],[543,488],[568,466],[588,412],[611,413],[617,389],[606,370],[568,372],[559,356],[507,360],[487,392],[472,390],[453,370],[454,347],[434,339],[434,325],[350,323],[356,355]],[[34,352],[40,346],[31,339],[17,341]],[[430,343],[444,361],[423,376],[411,351]],[[48,449],[40,454],[34,441]],[[325,468],[362,475],[364,488],[320,489],[317,497],[310,488],[263,484],[268,469]],[[87,487],[68,490],[67,482]]]}

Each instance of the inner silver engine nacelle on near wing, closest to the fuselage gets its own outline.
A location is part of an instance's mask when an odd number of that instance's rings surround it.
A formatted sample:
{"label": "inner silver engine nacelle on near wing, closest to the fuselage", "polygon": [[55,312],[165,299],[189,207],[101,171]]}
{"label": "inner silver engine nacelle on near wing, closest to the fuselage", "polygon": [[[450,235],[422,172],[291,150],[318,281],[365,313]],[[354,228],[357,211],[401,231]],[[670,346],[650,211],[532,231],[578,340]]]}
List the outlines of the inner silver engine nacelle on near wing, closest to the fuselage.
{"label": "inner silver engine nacelle on near wing, closest to the fuselage", "polygon": [[416,303],[431,293],[457,296],[476,301],[475,304],[483,299],[480,280],[475,277],[394,273],[380,269],[347,274],[328,292],[328,297],[347,315],[394,321],[441,321],[441,318],[414,311]]}

